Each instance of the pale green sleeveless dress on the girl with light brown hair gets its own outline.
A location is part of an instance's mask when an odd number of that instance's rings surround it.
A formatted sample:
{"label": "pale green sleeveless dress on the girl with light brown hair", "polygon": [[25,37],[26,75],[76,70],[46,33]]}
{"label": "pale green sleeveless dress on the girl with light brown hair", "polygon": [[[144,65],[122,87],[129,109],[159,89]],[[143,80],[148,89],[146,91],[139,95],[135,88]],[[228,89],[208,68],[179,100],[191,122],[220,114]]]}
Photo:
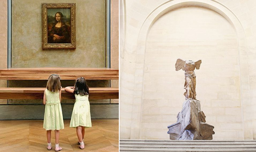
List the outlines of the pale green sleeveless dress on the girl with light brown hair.
{"label": "pale green sleeveless dress on the girl with light brown hair", "polygon": [[60,105],[60,92],[45,90],[46,105],[44,110],[44,129],[64,129],[62,109]]}

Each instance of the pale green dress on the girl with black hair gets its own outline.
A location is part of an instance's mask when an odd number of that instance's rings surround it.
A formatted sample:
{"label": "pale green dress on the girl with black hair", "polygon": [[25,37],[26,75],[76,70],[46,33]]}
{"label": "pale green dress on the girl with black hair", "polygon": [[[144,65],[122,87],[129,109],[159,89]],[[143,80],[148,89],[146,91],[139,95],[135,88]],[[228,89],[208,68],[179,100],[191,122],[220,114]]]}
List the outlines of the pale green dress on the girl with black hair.
{"label": "pale green dress on the girl with black hair", "polygon": [[70,120],[70,127],[92,127],[88,97],[89,95],[81,96],[80,94],[75,94],[76,102]]}

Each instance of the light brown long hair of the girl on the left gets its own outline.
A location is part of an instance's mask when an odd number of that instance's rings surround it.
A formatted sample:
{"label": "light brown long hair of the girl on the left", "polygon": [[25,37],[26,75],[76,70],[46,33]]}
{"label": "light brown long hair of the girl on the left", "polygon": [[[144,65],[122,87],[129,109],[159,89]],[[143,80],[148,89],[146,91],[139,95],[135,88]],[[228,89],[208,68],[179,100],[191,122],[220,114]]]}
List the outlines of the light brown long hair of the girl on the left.
{"label": "light brown long hair of the girl on the left", "polygon": [[47,90],[52,92],[60,91],[60,86],[60,76],[57,74],[50,75],[46,85]]}

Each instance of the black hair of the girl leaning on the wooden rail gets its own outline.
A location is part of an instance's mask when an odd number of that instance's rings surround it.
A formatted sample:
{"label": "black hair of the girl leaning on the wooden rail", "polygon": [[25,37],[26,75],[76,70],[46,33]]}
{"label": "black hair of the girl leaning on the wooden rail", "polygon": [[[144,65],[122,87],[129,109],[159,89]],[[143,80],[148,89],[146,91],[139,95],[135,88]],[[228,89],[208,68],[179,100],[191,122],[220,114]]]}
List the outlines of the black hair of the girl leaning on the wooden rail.
{"label": "black hair of the girl leaning on the wooden rail", "polygon": [[89,94],[88,85],[83,77],[76,79],[74,87],[74,94],[80,94],[82,96]]}

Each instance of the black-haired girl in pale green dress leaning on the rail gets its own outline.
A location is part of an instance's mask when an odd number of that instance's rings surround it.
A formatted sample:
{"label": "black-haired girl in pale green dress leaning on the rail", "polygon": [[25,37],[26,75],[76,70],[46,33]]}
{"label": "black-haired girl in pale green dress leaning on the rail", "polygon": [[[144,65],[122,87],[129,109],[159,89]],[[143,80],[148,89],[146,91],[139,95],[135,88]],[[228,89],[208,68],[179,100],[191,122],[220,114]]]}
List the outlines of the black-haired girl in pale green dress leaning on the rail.
{"label": "black-haired girl in pale green dress leaning on the rail", "polygon": [[76,127],[76,134],[80,144],[79,148],[84,149],[84,128],[92,127],[90,103],[88,100],[89,88],[86,80],[82,77],[76,79],[74,87],[68,86],[65,90],[74,93],[76,98],[70,120],[70,127]]}

